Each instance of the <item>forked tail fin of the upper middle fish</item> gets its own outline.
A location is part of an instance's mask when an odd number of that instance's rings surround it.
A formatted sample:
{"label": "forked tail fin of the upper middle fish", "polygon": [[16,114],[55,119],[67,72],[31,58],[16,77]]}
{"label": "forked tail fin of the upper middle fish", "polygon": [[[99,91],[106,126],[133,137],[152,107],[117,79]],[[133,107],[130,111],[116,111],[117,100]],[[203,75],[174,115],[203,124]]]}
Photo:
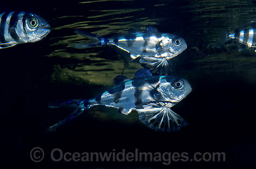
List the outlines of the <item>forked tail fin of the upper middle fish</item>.
{"label": "forked tail fin of the upper middle fish", "polygon": [[99,46],[108,44],[108,41],[106,38],[99,37],[96,34],[93,34],[93,33],[87,32],[87,31],[81,31],[81,30],[77,30],[74,32],[85,37],[85,38],[88,38],[90,41],[80,43],[80,44],[74,44],[74,45],[72,45],[73,48],[86,49],[86,48],[99,47]]}

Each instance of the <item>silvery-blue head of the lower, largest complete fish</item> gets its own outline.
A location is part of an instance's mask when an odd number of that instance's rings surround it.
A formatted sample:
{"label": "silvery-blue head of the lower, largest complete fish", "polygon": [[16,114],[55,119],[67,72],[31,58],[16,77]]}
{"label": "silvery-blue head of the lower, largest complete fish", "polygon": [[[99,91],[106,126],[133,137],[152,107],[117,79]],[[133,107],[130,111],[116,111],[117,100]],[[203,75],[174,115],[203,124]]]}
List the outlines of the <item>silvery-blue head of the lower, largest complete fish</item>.
{"label": "silvery-blue head of the lower, largest complete fish", "polygon": [[162,95],[163,101],[179,102],[191,91],[189,81],[175,76],[162,76],[157,91]]}

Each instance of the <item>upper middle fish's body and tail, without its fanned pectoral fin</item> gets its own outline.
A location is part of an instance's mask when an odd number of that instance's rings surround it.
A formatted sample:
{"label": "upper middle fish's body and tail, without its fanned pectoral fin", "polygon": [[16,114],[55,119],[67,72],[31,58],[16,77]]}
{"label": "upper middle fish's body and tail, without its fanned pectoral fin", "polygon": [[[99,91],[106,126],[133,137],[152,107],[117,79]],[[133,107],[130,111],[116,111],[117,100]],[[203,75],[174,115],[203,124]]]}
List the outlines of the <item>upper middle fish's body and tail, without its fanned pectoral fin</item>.
{"label": "upper middle fish's body and tail, without its fanned pectoral fin", "polygon": [[86,31],[75,31],[89,38],[88,43],[75,44],[74,48],[90,48],[105,45],[114,45],[128,52],[132,59],[140,56],[155,56],[171,59],[187,49],[184,39],[170,33],[161,33],[152,27],[147,27],[142,33],[128,33],[117,38],[99,37]]}

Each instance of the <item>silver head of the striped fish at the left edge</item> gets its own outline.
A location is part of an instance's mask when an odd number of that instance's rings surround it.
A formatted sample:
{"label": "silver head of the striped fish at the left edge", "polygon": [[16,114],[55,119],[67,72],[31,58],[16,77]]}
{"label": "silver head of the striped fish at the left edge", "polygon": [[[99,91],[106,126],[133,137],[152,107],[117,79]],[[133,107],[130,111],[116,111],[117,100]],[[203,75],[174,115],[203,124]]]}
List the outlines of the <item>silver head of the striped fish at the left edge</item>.
{"label": "silver head of the striped fish at the left edge", "polygon": [[51,31],[47,21],[34,13],[25,13],[16,26],[17,34],[25,43],[37,42]]}

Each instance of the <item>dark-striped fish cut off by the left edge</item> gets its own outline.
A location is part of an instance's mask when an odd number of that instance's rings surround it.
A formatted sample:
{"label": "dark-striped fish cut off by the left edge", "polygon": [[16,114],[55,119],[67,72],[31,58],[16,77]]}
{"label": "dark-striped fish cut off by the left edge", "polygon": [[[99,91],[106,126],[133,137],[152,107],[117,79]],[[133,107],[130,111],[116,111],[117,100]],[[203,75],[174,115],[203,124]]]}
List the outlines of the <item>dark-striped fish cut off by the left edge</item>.
{"label": "dark-striped fish cut off by the left edge", "polygon": [[34,13],[5,12],[0,14],[0,49],[16,44],[40,41],[50,32],[46,20]]}

